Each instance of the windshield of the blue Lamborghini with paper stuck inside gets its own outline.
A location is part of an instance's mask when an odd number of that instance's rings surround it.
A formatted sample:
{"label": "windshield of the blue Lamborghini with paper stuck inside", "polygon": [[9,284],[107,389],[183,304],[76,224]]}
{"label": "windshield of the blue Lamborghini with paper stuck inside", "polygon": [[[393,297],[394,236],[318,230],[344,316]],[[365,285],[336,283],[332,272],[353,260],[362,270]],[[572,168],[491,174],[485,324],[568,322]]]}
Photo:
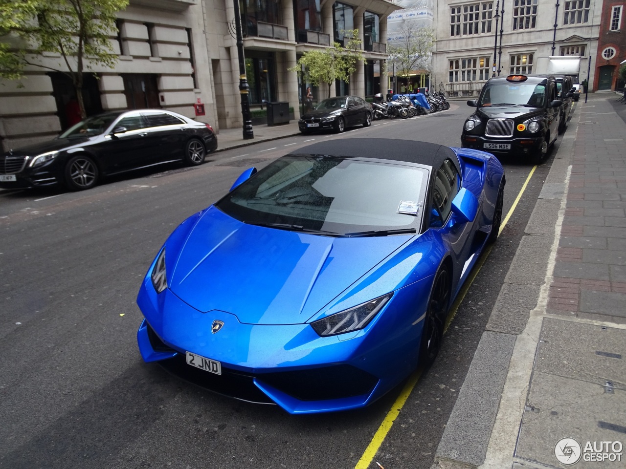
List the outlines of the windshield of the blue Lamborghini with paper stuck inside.
{"label": "windshield of the blue Lamborghini with paper stuck inside", "polygon": [[419,228],[428,171],[329,156],[284,156],[217,204],[245,223],[355,233]]}

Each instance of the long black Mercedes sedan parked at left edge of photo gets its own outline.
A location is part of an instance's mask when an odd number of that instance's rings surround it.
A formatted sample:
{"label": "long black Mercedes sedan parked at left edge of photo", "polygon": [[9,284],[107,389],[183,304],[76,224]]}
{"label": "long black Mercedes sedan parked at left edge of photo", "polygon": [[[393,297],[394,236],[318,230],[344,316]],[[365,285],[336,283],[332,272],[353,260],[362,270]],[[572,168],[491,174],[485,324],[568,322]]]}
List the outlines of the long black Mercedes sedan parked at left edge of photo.
{"label": "long black Mercedes sedan parked at left edge of photo", "polygon": [[80,191],[102,176],[157,164],[203,163],[217,148],[208,124],[172,111],[143,109],[98,114],[57,138],[11,149],[0,157],[0,188],[64,184]]}

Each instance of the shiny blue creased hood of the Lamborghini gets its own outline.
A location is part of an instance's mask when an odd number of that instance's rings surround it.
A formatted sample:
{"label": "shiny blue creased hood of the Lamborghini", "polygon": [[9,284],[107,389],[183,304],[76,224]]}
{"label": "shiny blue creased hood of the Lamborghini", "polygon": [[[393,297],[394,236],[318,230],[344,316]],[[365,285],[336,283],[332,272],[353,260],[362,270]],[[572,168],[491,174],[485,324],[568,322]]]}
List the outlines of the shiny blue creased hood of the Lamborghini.
{"label": "shiny blue creased hood of the Lamborghini", "polygon": [[310,235],[241,223],[210,207],[186,239],[173,238],[183,246],[165,246],[166,258],[175,256],[166,262],[178,298],[242,323],[285,325],[305,323],[413,235]]}

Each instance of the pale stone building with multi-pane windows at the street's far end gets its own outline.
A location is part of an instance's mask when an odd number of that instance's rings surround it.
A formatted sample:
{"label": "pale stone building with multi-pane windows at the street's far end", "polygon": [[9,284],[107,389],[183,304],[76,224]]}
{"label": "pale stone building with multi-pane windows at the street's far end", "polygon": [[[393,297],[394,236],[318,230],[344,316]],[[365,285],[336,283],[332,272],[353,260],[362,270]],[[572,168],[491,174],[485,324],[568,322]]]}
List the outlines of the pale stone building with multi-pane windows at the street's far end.
{"label": "pale stone building with multi-pane windows at the street's far end", "polygon": [[582,57],[582,82],[589,56],[595,68],[601,17],[602,0],[440,1],[433,84],[476,96],[494,73],[546,73],[550,56],[566,55]]}

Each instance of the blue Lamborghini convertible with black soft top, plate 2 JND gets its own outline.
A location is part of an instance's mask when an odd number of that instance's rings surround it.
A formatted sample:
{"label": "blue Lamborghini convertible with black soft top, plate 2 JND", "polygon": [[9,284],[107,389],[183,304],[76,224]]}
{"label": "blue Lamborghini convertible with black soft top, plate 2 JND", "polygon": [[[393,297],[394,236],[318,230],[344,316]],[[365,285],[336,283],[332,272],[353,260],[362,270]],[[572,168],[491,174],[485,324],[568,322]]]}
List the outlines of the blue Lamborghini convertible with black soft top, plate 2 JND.
{"label": "blue Lamborghini convertible with black soft top, plate 2 JND", "polygon": [[158,252],[137,298],[141,356],[290,413],[369,405],[435,360],[504,186],[489,153],[396,139],[248,169]]}

